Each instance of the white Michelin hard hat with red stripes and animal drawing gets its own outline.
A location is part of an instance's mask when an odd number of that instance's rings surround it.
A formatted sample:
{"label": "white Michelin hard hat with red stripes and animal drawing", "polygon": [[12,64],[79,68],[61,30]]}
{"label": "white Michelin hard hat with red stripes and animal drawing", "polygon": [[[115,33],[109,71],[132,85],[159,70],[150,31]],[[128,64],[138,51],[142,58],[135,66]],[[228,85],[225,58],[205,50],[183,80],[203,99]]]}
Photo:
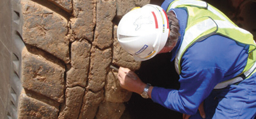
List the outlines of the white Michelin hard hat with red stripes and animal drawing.
{"label": "white Michelin hard hat with red stripes and animal drawing", "polygon": [[137,61],[154,57],[165,46],[168,35],[165,11],[151,4],[125,14],[117,28],[119,43]]}

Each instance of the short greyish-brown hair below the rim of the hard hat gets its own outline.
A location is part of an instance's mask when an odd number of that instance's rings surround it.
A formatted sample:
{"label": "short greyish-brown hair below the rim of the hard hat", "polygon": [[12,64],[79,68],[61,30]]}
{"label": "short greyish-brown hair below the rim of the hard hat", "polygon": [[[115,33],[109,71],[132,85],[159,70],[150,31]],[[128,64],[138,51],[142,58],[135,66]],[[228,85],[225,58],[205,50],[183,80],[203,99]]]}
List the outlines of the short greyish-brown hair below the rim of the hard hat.
{"label": "short greyish-brown hair below the rim of the hard hat", "polygon": [[180,33],[179,33],[180,27],[179,27],[179,20],[176,18],[176,15],[172,10],[170,10],[166,14],[169,20],[169,29],[170,29],[168,39],[165,43],[165,47],[168,47],[178,40],[180,36]]}

